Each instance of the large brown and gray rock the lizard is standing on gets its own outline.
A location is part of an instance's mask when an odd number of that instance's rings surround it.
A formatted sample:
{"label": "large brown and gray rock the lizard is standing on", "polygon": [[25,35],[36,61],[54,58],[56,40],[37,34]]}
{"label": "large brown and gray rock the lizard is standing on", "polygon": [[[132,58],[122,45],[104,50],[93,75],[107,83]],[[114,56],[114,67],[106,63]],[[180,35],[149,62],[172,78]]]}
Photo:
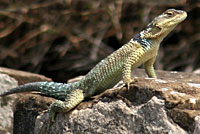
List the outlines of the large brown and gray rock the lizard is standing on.
{"label": "large brown and gray rock the lizard is standing on", "polygon": [[55,122],[42,112],[54,99],[20,96],[14,133],[200,133],[200,75],[157,71],[159,79],[150,79],[143,70],[133,74],[137,78],[129,90],[119,83],[119,87],[85,100],[68,114],[59,113]]}

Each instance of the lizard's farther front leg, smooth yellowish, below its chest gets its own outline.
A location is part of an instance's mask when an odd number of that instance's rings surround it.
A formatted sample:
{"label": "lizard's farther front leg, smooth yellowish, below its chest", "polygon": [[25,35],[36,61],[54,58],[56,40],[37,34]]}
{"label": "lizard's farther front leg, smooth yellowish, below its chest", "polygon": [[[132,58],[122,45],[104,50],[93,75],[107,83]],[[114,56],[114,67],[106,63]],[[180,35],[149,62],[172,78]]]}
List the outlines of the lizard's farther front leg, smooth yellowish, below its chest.
{"label": "lizard's farther front leg, smooth yellowish, below its chest", "polygon": [[153,67],[155,60],[156,60],[156,56],[149,59],[148,61],[146,61],[144,63],[145,72],[147,73],[147,75],[150,78],[157,78],[156,73],[155,73],[155,69]]}

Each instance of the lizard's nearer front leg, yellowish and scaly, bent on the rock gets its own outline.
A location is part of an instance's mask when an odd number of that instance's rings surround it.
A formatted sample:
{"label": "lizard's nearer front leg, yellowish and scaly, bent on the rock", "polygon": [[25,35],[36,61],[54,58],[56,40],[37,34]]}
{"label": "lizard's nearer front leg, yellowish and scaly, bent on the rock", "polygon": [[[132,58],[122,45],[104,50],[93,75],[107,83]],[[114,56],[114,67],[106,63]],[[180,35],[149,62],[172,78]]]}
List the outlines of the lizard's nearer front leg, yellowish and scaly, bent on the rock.
{"label": "lizard's nearer front leg, yellowish and scaly, bent on the rock", "polygon": [[142,47],[137,48],[136,50],[134,50],[133,52],[129,54],[129,57],[126,59],[126,61],[123,64],[122,79],[123,79],[123,82],[127,85],[128,89],[129,89],[130,83],[133,81],[131,79],[132,67],[135,64],[137,64],[137,62],[140,60],[140,58],[143,56],[144,53],[145,51]]}

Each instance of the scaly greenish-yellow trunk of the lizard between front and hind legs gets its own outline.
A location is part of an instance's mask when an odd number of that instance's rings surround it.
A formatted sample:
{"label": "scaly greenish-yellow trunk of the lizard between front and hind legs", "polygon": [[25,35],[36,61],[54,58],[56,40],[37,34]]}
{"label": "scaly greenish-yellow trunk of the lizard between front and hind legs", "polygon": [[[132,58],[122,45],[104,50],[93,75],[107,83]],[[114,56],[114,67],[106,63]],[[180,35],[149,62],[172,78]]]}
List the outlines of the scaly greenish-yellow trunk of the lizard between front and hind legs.
{"label": "scaly greenish-yellow trunk of the lizard between front and hind legs", "polygon": [[84,78],[80,85],[86,96],[92,96],[113,87],[122,79],[122,67],[129,54],[137,51],[137,46],[128,42],[111,55],[101,60]]}

